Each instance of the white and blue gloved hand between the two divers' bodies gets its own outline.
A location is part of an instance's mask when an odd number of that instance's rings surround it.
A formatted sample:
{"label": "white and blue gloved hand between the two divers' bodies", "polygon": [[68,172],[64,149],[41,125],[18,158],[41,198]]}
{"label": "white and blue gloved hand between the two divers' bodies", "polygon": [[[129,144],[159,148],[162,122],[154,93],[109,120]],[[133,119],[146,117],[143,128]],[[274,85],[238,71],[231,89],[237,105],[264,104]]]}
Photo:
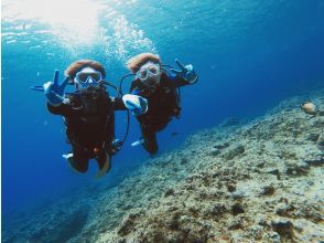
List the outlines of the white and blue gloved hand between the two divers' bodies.
{"label": "white and blue gloved hand between the two divers' bodies", "polygon": [[131,110],[134,116],[139,116],[148,112],[148,101],[139,95],[123,95],[122,102],[126,108]]}

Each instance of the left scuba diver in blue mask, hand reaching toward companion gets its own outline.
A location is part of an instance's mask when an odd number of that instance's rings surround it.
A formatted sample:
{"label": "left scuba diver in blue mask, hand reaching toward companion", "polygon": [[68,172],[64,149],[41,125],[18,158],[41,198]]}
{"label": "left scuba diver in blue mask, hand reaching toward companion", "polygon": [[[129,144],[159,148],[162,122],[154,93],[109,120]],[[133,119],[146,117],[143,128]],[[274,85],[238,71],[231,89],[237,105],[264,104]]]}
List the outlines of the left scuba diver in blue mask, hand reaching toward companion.
{"label": "left scuba diver in blue mask, hand reaching toward companion", "polygon": [[[101,177],[109,171],[111,156],[121,146],[115,140],[114,112],[126,109],[127,104],[132,114],[140,115],[147,112],[147,101],[138,95],[110,97],[105,86],[109,83],[104,81],[106,71],[91,60],[72,63],[65,75],[58,84],[58,71],[55,71],[53,82],[45,83],[43,89],[37,86],[39,91],[44,92],[50,113],[64,117],[72,152],[63,157],[79,172],[86,172],[88,160],[95,158],[99,167],[97,177]],[[73,84],[76,92],[65,93],[67,84]]]}

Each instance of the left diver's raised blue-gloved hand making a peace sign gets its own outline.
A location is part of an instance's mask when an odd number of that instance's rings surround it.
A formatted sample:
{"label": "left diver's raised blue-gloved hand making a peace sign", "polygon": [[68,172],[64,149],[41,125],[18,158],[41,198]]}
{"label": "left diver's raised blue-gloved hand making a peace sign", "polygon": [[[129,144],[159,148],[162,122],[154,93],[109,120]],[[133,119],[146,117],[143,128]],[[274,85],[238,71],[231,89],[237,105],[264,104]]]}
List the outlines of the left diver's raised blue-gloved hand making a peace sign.
{"label": "left diver's raised blue-gloved hand making a peace sign", "polygon": [[44,94],[47,101],[53,106],[58,106],[64,101],[64,89],[68,83],[69,77],[65,77],[62,84],[58,84],[58,71],[54,72],[53,82],[47,82],[43,85]]}

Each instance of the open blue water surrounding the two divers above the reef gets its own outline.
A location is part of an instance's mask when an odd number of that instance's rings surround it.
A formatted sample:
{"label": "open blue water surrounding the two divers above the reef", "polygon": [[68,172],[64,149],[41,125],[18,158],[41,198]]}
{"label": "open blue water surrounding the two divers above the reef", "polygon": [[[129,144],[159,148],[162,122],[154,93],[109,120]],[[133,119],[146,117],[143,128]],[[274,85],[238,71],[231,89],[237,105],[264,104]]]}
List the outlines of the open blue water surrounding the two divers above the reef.
{"label": "open blue water surrounding the two divers above the reef", "polygon": [[[2,2],[4,215],[84,184],[114,186],[149,158],[129,146],[140,136],[132,118],[107,177],[94,180],[94,162],[87,175],[71,171],[62,158],[68,151],[62,118],[48,114],[44,96],[29,87],[50,81],[55,68],[63,78],[78,59],[101,62],[115,84],[128,73],[126,61],[141,52],[195,66],[199,82],[182,88],[182,118],[159,134],[160,152],[226,117],[256,117],[287,97],[324,86],[323,0],[53,2]],[[120,137],[125,119],[119,113]],[[171,136],[174,131],[179,135]]]}

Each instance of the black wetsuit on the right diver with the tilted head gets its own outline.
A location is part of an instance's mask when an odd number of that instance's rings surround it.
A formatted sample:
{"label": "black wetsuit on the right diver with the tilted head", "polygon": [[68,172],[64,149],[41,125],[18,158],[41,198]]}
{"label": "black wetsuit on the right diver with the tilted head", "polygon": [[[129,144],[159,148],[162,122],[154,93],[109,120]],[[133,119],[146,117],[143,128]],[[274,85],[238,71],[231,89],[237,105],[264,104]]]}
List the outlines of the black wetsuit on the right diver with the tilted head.
{"label": "black wetsuit on the right diver with the tilted head", "polygon": [[156,154],[159,149],[156,133],[165,128],[173,116],[180,116],[176,89],[184,85],[188,85],[188,82],[179,75],[169,76],[165,72],[162,73],[160,84],[153,93],[148,91],[140,80],[134,80],[131,84],[131,94],[148,99],[148,112],[137,118],[144,139],[143,147],[151,155]]}

